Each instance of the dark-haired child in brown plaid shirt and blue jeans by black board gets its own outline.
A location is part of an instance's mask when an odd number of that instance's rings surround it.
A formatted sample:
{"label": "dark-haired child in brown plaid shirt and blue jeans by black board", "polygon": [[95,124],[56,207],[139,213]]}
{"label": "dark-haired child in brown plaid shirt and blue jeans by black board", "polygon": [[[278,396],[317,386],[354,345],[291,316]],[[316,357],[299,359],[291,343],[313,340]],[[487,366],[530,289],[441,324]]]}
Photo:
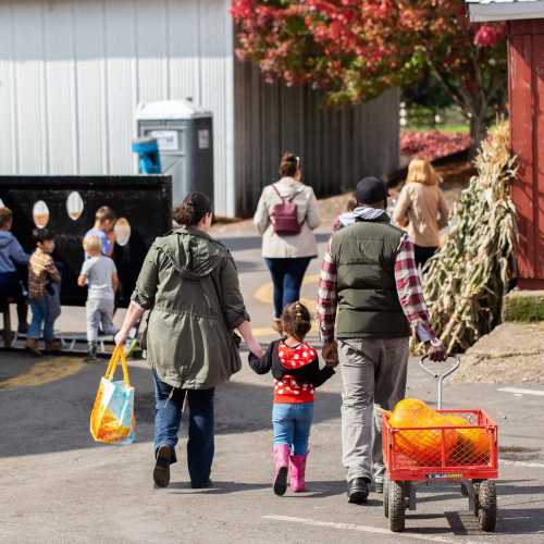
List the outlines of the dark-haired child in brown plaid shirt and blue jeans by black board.
{"label": "dark-haired child in brown plaid shirt and blue jeans by black board", "polygon": [[33,319],[28,329],[26,348],[35,355],[41,355],[39,338],[44,330],[44,339],[48,351],[60,349],[54,339],[54,317],[48,304],[49,282],[61,283],[61,274],[54,265],[51,254],[54,251],[54,236],[47,228],[33,232],[36,250],[28,261],[28,300],[33,310]]}

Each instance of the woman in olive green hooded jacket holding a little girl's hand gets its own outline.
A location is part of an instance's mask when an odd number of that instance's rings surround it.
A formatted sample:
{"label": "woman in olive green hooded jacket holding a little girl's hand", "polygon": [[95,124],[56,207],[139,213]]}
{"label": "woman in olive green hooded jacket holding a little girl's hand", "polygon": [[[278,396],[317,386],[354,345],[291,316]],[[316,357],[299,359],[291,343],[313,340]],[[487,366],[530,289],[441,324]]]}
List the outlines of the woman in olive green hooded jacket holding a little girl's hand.
{"label": "woman in olive green hooded jacket holding a little girl's hand", "polygon": [[208,234],[209,198],[191,193],[176,208],[174,219],[182,228],[157,238],[149,249],[115,343],[123,344],[150,310],[147,357],[156,391],[154,483],[159,487],[170,483],[187,397],[190,483],[206,487],[214,453],[214,387],[242,367],[234,330],[254,354],[262,355],[262,350],[251,332],[234,260]]}

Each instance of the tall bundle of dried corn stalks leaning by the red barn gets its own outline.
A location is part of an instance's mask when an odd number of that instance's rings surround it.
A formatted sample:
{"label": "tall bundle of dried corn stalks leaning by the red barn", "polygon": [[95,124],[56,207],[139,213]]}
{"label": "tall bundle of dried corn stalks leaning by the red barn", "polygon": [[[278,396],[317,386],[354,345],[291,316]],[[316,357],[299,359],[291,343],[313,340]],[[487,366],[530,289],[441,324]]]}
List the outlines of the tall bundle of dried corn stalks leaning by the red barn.
{"label": "tall bundle of dried corn stalks leaning by the red barn", "polygon": [[516,175],[508,123],[481,145],[478,174],[454,209],[454,225],[429,261],[423,290],[431,323],[449,353],[465,351],[500,321],[503,296],[514,272]]}

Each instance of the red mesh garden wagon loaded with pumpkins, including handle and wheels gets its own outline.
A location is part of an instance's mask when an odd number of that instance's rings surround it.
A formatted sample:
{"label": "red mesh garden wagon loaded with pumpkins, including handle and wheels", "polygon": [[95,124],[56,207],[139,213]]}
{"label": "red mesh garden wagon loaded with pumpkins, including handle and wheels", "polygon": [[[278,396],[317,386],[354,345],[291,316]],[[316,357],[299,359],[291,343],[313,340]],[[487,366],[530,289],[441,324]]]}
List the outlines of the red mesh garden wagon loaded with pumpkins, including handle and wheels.
{"label": "red mesh garden wagon loaded with pumpkins, including handle and wheels", "polygon": [[443,410],[442,384],[459,368],[443,374],[422,368],[438,381],[438,413],[463,418],[468,424],[393,428],[383,416],[384,514],[392,531],[405,529],[406,509],[415,510],[418,485],[449,482],[468,496],[469,509],[483,531],[494,531],[497,515],[495,482],[498,478],[497,425],[483,411]]}

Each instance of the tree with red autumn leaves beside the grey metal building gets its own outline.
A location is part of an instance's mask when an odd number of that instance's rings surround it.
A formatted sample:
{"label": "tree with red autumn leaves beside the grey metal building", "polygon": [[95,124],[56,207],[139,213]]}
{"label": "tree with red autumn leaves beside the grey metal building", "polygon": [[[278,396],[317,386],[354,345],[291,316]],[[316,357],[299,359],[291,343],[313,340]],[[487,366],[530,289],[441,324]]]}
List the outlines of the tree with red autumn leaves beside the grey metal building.
{"label": "tree with red autumn leaves beside the grey metal building", "polygon": [[506,88],[505,28],[463,0],[233,0],[238,57],[268,81],[357,103],[431,71],[470,121],[475,147]]}

